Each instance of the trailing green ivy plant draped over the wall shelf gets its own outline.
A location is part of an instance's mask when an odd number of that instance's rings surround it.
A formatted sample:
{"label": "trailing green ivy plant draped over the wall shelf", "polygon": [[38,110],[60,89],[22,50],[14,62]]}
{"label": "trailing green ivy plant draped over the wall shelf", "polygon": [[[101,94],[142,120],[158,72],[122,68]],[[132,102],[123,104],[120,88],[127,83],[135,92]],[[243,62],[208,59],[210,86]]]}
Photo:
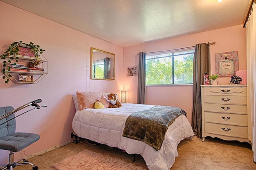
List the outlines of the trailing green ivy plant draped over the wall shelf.
{"label": "trailing green ivy plant draped over the wall shelf", "polygon": [[10,64],[13,62],[13,60],[15,60],[12,64],[16,65],[16,63],[18,63],[18,58],[19,56],[16,55],[19,52],[18,46],[25,46],[28,48],[31,48],[32,50],[34,50],[35,52],[35,57],[37,57],[38,59],[39,54],[44,53],[44,49],[40,48],[40,45],[34,45],[33,42],[30,43],[22,43],[22,41],[20,42],[13,42],[9,45],[9,48],[0,55],[2,63],[3,63],[3,68],[2,68],[2,73],[5,74],[3,75],[3,79],[6,79],[6,81],[4,81],[4,83],[9,83],[10,79],[9,77],[12,77],[12,75],[9,74],[9,71],[11,71],[11,67]]}

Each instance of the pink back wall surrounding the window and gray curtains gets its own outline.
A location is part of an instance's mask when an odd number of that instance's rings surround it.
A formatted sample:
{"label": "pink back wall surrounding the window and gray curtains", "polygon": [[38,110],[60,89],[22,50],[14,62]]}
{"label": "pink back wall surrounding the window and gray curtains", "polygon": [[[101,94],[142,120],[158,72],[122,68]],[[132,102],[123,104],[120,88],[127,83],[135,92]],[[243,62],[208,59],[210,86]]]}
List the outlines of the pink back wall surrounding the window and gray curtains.
{"label": "pink back wall surrounding the window and gray curtains", "polygon": [[[124,48],[124,89],[128,90],[128,102],[137,102],[138,76],[126,76],[126,68],[138,65],[139,52],[154,52],[194,46],[197,43],[216,42],[211,45],[211,72],[215,74],[215,53],[238,51],[239,69],[246,69],[246,33],[242,25],[169,38]],[[218,78],[219,84],[228,84],[230,77]],[[188,113],[191,123],[192,85],[148,86],[147,104],[176,106]]]}

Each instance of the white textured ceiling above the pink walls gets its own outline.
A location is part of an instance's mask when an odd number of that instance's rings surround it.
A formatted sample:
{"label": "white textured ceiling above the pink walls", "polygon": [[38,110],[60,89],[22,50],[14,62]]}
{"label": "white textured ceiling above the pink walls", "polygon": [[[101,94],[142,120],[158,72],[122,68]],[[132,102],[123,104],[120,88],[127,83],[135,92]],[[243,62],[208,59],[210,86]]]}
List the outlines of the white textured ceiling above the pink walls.
{"label": "white textured ceiling above the pink walls", "polygon": [[250,0],[1,0],[122,47],[243,24]]}

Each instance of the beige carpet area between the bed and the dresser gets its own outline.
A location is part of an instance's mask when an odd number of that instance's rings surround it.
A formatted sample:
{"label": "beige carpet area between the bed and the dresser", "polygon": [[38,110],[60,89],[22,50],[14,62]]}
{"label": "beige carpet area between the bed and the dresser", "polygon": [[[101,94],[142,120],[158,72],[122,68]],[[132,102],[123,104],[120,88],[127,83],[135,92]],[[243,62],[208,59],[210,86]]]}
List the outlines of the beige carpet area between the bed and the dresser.
{"label": "beige carpet area between the bed and the dresser", "polygon": [[[184,139],[171,170],[256,170],[253,152],[247,142],[207,137]],[[180,166],[182,165],[182,166]]]}

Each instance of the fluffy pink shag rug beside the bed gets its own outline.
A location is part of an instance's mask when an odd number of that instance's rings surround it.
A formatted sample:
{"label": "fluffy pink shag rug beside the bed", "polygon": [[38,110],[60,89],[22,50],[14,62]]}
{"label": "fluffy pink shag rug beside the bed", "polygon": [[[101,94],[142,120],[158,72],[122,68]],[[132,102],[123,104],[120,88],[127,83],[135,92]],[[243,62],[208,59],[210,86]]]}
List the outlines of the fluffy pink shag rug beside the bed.
{"label": "fluffy pink shag rug beside the bed", "polygon": [[57,164],[54,168],[58,170],[143,170],[141,166],[125,162],[114,156],[97,153],[91,150],[68,157]]}

